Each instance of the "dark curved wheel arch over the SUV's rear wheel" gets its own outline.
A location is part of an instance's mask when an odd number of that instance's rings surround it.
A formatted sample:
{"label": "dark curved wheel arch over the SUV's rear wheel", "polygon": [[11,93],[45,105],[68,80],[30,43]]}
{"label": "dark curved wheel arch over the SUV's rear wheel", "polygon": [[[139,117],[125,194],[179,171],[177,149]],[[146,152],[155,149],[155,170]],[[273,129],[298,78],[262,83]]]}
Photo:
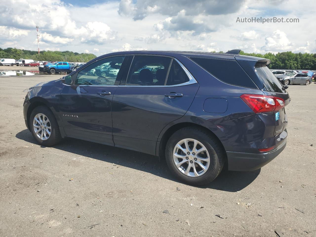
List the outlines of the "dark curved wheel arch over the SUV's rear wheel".
{"label": "dark curved wheel arch over the SUV's rear wheel", "polygon": [[166,148],[166,145],[167,145],[167,141],[169,140],[169,138],[171,137],[171,135],[178,131],[179,129],[182,129],[182,128],[185,128],[185,127],[196,127],[196,128],[199,128],[199,129],[202,129],[204,131],[206,131],[208,134],[210,134],[212,137],[214,137],[217,142],[222,146],[222,149],[225,151],[226,153],[226,150],[223,146],[223,143],[221,142],[221,140],[216,136],[216,134],[212,131],[210,131],[210,129],[202,126],[202,125],[199,125],[199,124],[196,124],[196,123],[191,123],[191,122],[181,122],[181,123],[177,123],[177,124],[174,124],[172,126],[170,126],[169,128],[167,128],[166,131],[163,132],[163,135],[161,136],[161,140],[160,142],[157,143],[157,147],[156,147],[156,155],[159,156],[159,157],[165,157],[165,148]]}

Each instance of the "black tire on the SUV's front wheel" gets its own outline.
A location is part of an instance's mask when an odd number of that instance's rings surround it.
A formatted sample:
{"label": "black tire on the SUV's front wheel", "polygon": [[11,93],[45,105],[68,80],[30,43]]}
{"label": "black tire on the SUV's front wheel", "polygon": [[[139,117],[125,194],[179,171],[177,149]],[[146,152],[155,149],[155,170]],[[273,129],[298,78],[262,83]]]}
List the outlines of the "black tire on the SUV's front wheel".
{"label": "black tire on the SUV's front wheel", "polygon": [[[37,128],[33,127],[34,117],[37,116],[38,114],[44,114],[45,117],[47,117],[47,119],[49,120],[49,122],[46,124],[46,126],[50,125],[51,134],[47,137],[46,140],[42,140],[40,137],[38,137],[35,133],[35,130],[34,130]],[[41,117],[41,118],[43,118],[43,117]],[[46,121],[48,121],[48,120],[46,120]],[[37,123],[36,123],[36,125],[37,125]],[[52,111],[46,106],[38,106],[38,107],[35,107],[33,109],[33,111],[31,112],[31,115],[30,115],[29,127],[30,127],[30,130],[31,130],[31,133],[32,133],[34,139],[40,145],[53,146],[53,145],[58,144],[62,139],[60,136],[59,126],[58,126],[58,123],[56,121],[56,118],[55,118],[54,114],[52,113]],[[47,129],[47,130],[49,131],[49,129]],[[38,135],[41,136],[42,132],[43,131],[39,132]],[[43,135],[43,137],[44,137],[44,135]],[[46,133],[46,135],[47,135],[47,133]]]}

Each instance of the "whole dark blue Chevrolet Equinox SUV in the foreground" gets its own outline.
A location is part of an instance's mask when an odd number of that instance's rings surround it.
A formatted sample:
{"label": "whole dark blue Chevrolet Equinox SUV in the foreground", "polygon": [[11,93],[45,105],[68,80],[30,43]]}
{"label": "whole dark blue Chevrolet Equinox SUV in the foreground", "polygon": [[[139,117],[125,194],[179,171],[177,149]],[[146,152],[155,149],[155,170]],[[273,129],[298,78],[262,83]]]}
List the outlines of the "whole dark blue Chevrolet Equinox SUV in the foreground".
{"label": "whole dark blue Chevrolet Equinox SUV in the foreground", "polygon": [[[35,140],[63,137],[164,157],[192,185],[256,170],[286,145],[289,94],[268,59],[204,52],[130,51],[95,58],[27,92]],[[107,75],[91,70],[111,66]]]}

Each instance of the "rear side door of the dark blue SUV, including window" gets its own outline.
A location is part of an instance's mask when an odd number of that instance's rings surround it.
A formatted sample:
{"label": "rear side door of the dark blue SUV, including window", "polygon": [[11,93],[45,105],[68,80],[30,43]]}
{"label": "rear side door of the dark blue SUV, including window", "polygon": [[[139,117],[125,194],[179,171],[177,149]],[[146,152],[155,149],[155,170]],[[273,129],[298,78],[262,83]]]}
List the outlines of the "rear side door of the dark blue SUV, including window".
{"label": "rear side door of the dark blue SUV, including window", "polygon": [[135,55],[130,60],[126,80],[113,96],[113,141],[117,147],[155,155],[160,132],[185,114],[199,85],[176,59]]}

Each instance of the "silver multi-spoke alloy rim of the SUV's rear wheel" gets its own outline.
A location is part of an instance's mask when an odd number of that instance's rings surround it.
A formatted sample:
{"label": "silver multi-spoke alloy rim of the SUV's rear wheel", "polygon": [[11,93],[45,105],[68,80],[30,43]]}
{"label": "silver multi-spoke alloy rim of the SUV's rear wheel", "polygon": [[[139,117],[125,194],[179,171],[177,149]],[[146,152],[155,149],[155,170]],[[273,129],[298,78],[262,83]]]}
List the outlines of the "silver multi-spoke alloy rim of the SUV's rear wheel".
{"label": "silver multi-spoke alloy rim of the SUV's rear wheel", "polygon": [[198,177],[209,169],[210,154],[203,143],[185,138],[175,145],[173,161],[181,173],[189,177]]}

